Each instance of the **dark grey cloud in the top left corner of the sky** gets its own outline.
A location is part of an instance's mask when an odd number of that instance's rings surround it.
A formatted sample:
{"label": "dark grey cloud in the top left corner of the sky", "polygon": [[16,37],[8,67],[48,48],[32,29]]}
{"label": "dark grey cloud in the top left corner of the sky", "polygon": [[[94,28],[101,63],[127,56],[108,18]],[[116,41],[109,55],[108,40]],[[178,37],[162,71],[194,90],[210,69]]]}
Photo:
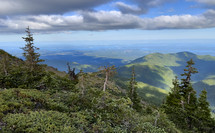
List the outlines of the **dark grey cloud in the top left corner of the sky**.
{"label": "dark grey cloud in the top left corner of the sky", "polygon": [[111,0],[0,0],[0,16],[63,14],[88,10]]}

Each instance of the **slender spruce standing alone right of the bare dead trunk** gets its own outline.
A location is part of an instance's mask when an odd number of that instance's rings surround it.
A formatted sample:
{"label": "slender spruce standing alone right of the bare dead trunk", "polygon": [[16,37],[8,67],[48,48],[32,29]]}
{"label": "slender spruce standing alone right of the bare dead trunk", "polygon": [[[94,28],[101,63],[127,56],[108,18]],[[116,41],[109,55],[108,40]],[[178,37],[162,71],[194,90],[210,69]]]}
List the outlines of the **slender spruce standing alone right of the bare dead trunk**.
{"label": "slender spruce standing alone right of the bare dead trunk", "polygon": [[135,71],[134,67],[132,68],[132,75],[129,82],[129,93],[128,96],[131,99],[133,105],[132,107],[136,109],[138,112],[141,111],[141,103],[140,103],[140,97],[137,94],[137,82],[135,80]]}

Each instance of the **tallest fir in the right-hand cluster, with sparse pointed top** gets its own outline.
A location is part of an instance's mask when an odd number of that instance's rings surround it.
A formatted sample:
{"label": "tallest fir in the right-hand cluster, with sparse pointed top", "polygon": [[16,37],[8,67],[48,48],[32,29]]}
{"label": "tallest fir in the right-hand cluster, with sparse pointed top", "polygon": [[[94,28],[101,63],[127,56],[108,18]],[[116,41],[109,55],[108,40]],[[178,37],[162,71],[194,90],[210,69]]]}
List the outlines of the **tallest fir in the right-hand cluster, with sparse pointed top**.
{"label": "tallest fir in the right-hand cluster, with sparse pointed top", "polygon": [[191,84],[192,74],[197,73],[196,68],[192,67],[195,63],[191,59],[187,62],[187,68],[184,69],[185,78],[181,79],[181,84],[177,79],[173,82],[173,89],[166,98],[164,105],[165,112],[170,119],[180,128],[193,130],[197,118],[197,97]]}

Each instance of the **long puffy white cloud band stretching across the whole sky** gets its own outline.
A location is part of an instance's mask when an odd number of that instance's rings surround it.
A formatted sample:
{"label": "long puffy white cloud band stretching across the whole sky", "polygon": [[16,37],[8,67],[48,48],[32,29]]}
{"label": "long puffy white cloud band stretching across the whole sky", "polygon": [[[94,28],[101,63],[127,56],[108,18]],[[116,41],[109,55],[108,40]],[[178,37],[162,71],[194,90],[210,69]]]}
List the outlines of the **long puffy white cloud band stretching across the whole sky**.
{"label": "long puffy white cloud band stretching across the whole sky", "polygon": [[141,18],[119,11],[81,12],[79,15],[29,15],[0,19],[1,33],[23,33],[27,26],[35,32],[100,31],[119,29],[200,29],[215,27],[215,10],[198,15]]}

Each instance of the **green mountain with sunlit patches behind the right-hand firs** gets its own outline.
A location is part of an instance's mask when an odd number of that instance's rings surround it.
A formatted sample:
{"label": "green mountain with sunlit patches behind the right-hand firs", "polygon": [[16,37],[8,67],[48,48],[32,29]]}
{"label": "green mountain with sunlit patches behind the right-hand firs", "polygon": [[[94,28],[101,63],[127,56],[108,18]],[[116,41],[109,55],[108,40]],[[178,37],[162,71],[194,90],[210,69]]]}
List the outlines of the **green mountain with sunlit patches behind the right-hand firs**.
{"label": "green mountain with sunlit patches behind the right-hand firs", "polygon": [[[183,73],[186,62],[193,59],[194,67],[199,73],[193,75],[192,81],[197,93],[200,93],[204,88],[208,91],[208,100],[215,105],[215,57],[209,55],[195,55],[190,52],[180,52],[176,54],[160,54],[154,53],[141,58],[138,58],[128,65],[118,69],[118,77],[123,81],[128,81],[132,67],[135,67],[136,79],[138,82],[148,84],[162,90],[169,91],[172,86],[172,79]],[[123,78],[122,78],[123,77]],[[150,92],[150,87],[148,87]],[[140,92],[144,98],[147,92]],[[157,93],[156,97],[161,94]],[[162,101],[160,101],[162,102]]]}

